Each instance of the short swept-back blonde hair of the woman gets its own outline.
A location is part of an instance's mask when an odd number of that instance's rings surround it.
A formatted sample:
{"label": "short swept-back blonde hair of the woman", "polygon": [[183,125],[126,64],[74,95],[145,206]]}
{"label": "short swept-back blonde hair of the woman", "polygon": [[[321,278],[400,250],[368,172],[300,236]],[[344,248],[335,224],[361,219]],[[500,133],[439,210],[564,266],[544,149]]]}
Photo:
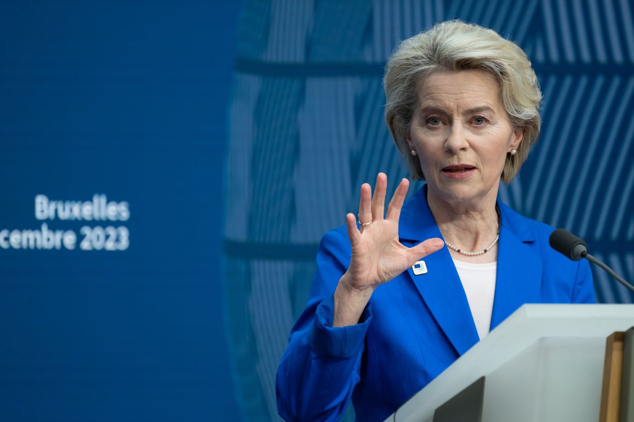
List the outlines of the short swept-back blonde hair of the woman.
{"label": "short swept-back blonde hair of the woman", "polygon": [[501,103],[512,126],[524,128],[517,153],[507,154],[502,170],[501,179],[508,184],[540,134],[541,91],[526,53],[494,30],[460,20],[437,23],[401,42],[385,68],[385,121],[413,179],[425,179],[406,140],[417,105],[417,84],[437,70],[484,70],[500,84]]}

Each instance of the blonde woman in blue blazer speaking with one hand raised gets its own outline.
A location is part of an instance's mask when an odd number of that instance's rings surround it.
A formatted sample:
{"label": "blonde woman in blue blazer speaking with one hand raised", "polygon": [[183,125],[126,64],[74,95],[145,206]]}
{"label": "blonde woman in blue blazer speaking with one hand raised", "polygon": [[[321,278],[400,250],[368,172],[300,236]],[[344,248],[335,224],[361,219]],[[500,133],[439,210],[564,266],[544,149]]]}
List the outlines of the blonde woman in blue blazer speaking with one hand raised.
{"label": "blonde woman in blue blazer speaking with one hand raised", "polygon": [[526,54],[444,22],[399,46],[384,86],[387,125],[427,184],[404,201],[403,179],[384,215],[378,174],[358,217],[323,236],[277,374],[287,420],[337,420],[352,398],[359,420],[382,421],[522,304],[594,302],[588,264],[496,200],[540,131]]}

